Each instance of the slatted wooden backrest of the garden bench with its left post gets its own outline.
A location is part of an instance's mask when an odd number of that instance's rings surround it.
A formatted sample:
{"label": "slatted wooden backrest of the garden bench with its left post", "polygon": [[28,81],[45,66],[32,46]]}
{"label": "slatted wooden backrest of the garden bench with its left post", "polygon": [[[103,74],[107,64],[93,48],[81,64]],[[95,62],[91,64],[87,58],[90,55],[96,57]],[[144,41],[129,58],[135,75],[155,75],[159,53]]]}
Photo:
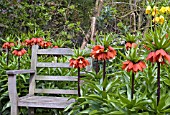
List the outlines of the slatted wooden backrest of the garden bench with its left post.
{"label": "slatted wooden backrest of the garden bench with its left post", "polygon": [[36,70],[35,74],[31,74],[29,94],[44,93],[44,94],[77,94],[77,90],[66,89],[40,89],[36,88],[36,81],[77,81],[77,76],[54,76],[54,75],[38,75],[37,68],[71,68],[69,62],[38,62],[39,55],[64,55],[71,56],[73,51],[70,48],[51,48],[39,49],[38,45],[32,46],[31,69]]}

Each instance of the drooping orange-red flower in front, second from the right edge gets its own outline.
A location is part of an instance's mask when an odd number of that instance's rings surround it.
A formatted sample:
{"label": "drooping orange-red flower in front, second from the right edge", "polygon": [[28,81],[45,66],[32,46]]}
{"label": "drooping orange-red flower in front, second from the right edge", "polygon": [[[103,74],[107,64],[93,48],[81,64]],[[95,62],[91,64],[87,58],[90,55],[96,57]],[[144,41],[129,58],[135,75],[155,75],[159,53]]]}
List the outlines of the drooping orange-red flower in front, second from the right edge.
{"label": "drooping orange-red flower in front, second from the right edge", "polygon": [[132,71],[133,73],[137,73],[138,71],[143,71],[146,68],[146,65],[143,61],[139,61],[137,63],[133,63],[130,60],[123,62],[122,69],[127,72]]}

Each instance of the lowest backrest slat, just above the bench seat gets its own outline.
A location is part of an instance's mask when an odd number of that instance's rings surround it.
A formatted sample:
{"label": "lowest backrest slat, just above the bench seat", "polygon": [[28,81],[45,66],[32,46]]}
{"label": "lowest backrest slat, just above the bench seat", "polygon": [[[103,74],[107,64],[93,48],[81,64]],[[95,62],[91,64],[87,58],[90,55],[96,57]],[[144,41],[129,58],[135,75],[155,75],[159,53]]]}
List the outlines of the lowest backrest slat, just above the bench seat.
{"label": "lowest backrest slat, just above the bench seat", "polygon": [[77,90],[65,90],[65,89],[35,89],[35,93],[46,93],[46,94],[77,94]]}

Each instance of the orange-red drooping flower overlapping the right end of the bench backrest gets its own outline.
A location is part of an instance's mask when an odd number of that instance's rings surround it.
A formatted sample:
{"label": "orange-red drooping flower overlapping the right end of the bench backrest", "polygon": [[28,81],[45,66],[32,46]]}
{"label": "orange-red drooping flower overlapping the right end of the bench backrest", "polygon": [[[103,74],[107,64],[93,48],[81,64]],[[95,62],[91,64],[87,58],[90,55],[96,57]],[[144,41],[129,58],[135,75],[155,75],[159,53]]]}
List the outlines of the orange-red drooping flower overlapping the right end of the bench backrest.
{"label": "orange-red drooping flower overlapping the right end of the bench backrest", "polygon": [[73,68],[85,68],[90,63],[84,57],[79,56],[77,59],[70,59],[70,66]]}

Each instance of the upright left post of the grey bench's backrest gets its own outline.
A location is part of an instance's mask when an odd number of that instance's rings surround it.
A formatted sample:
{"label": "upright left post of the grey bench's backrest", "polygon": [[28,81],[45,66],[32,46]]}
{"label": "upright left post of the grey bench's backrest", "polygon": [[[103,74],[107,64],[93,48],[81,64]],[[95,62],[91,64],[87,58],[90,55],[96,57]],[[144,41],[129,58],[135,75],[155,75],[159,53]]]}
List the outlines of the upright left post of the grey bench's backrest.
{"label": "upright left post of the grey bench's backrest", "polygon": [[[37,51],[38,51],[38,45],[32,46],[32,56],[31,56],[31,69],[35,70],[36,72],[36,64],[37,64]],[[34,89],[35,89],[35,76],[36,73],[30,74],[30,80],[29,80],[29,94],[34,95]]]}

